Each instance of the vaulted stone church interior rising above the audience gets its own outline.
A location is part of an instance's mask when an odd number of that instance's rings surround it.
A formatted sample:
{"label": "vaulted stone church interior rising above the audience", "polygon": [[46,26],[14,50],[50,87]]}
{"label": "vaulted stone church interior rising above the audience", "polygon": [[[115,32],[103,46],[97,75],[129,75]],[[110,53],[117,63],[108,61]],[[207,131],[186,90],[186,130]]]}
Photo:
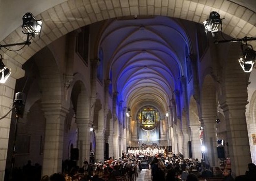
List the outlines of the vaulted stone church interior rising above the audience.
{"label": "vaulted stone church interior rising above the audience", "polygon": [[0,180],[27,160],[51,175],[122,150],[229,159],[237,175],[256,164],[256,3],[15,3],[0,1]]}

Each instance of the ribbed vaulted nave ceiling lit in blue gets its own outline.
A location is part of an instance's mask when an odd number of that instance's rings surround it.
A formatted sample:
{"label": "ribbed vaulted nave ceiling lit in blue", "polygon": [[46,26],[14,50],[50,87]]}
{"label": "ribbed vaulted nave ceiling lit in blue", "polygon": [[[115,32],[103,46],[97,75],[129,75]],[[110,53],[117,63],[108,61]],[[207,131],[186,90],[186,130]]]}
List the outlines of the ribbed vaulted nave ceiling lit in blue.
{"label": "ribbed vaulted nave ceiling lit in blue", "polygon": [[189,38],[168,17],[112,20],[101,36],[104,73],[126,107],[155,105],[167,111],[186,72]]}

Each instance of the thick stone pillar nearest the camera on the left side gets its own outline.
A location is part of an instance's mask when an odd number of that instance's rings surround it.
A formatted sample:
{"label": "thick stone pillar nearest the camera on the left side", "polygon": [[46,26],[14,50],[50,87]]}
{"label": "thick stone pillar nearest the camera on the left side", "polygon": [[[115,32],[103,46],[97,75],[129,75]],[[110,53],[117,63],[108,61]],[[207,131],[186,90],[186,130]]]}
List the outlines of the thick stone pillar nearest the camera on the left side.
{"label": "thick stone pillar nearest the camera on the left side", "polygon": [[51,105],[47,108],[43,105],[42,110],[46,117],[42,175],[51,175],[62,171],[64,123],[68,110]]}

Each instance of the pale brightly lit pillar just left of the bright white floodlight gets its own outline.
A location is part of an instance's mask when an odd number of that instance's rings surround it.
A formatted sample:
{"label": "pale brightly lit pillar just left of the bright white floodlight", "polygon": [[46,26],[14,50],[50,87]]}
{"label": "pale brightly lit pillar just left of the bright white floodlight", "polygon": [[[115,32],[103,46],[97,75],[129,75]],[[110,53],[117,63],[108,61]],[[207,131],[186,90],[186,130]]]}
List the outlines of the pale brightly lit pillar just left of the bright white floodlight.
{"label": "pale brightly lit pillar just left of the bright white floodlight", "polygon": [[199,138],[199,127],[200,126],[190,126],[191,129],[191,147],[192,147],[192,157],[198,158],[201,160],[202,153],[201,153],[201,143]]}

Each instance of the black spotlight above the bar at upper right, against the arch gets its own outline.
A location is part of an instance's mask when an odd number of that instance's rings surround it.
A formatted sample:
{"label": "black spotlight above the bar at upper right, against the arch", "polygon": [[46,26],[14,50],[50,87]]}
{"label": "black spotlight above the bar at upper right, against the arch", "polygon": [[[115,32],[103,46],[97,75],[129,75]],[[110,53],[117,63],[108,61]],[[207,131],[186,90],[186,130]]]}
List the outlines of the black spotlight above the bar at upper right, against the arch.
{"label": "black spotlight above the bar at upper right, against the arch", "polygon": [[216,11],[212,11],[209,14],[209,18],[204,21],[205,30],[210,33],[218,33],[222,30],[222,22],[220,14]]}

